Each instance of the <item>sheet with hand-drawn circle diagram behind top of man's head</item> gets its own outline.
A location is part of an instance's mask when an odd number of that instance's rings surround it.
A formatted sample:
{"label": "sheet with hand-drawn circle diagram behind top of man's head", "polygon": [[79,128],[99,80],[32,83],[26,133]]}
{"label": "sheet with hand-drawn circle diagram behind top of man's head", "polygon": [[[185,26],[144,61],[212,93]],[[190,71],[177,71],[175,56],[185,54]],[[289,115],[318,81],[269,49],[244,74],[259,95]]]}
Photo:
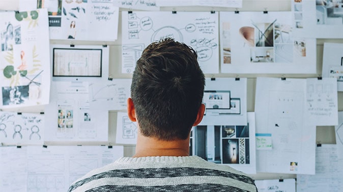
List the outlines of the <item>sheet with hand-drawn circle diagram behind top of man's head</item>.
{"label": "sheet with hand-drawn circle diagram behind top of man's head", "polygon": [[[168,25],[165,20],[168,20]],[[123,14],[122,23],[123,73],[133,71],[147,45],[166,37],[196,50],[204,73],[219,72],[219,66],[213,65],[219,61],[217,13],[134,12]]]}

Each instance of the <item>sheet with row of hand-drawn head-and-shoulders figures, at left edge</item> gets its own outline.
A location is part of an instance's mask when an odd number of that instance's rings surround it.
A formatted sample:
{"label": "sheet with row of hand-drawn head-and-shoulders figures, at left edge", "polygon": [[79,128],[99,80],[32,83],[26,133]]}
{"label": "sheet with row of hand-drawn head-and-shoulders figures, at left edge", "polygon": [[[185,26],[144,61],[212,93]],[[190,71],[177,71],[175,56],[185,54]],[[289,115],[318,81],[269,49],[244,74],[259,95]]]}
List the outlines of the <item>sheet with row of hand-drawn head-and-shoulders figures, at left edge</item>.
{"label": "sheet with row of hand-drawn head-and-shoulders figures, at left edge", "polygon": [[6,143],[43,143],[42,114],[0,112],[0,141]]}

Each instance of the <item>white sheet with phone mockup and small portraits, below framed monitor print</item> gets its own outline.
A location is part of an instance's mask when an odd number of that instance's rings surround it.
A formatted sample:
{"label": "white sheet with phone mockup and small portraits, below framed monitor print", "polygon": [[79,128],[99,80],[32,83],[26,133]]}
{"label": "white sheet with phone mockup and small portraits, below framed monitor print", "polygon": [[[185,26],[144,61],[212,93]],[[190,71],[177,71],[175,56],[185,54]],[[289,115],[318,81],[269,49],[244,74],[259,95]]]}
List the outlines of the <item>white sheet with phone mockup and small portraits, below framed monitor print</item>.
{"label": "white sheet with phone mockup and small portraits, below framed monitor print", "polygon": [[47,141],[107,141],[108,110],[93,110],[88,82],[52,82],[45,107]]}

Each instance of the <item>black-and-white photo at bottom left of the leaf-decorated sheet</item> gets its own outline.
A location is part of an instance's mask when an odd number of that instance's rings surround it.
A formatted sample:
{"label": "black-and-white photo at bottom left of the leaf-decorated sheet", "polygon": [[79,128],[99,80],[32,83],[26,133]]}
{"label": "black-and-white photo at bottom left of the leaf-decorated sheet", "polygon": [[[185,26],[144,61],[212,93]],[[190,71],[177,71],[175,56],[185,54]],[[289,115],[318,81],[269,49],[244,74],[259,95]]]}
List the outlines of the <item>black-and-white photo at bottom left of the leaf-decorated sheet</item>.
{"label": "black-and-white photo at bottom left of the leaf-decorated sheet", "polygon": [[23,104],[28,100],[28,85],[3,87],[3,105]]}

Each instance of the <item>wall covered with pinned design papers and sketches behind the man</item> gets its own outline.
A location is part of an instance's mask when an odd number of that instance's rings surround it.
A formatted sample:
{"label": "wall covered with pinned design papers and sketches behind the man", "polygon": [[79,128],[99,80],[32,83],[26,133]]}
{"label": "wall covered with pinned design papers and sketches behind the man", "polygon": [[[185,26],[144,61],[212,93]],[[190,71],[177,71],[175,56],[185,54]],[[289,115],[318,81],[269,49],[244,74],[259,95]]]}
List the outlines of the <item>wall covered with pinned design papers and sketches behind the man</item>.
{"label": "wall covered with pinned design papers and sketches behind the man", "polygon": [[[343,188],[343,44],[324,43],[317,74],[317,39],[343,39],[343,1],[285,0],[286,11],[241,11],[248,0],[13,2],[0,6],[0,189],[66,191],[132,156],[130,77],[164,37],[196,50],[206,74],[190,155],[253,178],[290,175],[255,180],[259,191]],[[318,144],[316,126],[334,126],[336,144]]]}

